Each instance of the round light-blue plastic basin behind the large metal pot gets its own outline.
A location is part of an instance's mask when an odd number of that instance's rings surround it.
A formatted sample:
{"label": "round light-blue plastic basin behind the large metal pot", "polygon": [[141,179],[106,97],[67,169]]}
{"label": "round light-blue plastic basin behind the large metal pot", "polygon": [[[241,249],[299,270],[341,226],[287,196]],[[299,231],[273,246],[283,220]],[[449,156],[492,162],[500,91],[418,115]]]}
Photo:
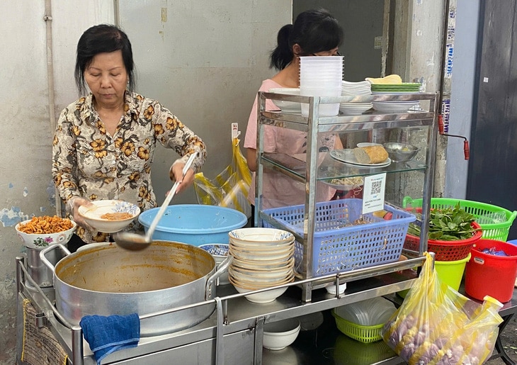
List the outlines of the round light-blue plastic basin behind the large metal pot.
{"label": "round light-blue plastic basin behind the large metal pot", "polygon": [[[138,221],[147,232],[159,208],[145,210]],[[228,243],[228,232],[242,228],[248,218],[239,210],[220,206],[177,204],[169,206],[161,217],[153,240],[188,243],[199,246],[205,243]]]}

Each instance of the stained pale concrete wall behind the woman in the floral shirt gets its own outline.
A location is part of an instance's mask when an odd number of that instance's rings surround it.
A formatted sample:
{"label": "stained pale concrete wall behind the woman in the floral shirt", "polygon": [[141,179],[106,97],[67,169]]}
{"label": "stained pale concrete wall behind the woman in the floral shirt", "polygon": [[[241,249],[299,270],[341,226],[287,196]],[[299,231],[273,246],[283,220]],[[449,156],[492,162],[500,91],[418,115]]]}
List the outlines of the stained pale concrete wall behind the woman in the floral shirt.
{"label": "stained pale concrete wall behind the woman in the floral shirt", "polygon": [[[280,26],[291,21],[290,0],[110,1],[52,0],[55,118],[77,98],[75,48],[97,23],[120,24],[132,41],[137,90],[158,99],[208,145],[203,172],[213,177],[231,155],[230,125],[245,130],[262,79],[271,76],[268,52]],[[53,215],[50,176],[53,130],[47,92],[45,1],[9,1],[2,11],[0,52],[0,364],[16,352],[15,257],[21,242],[14,225],[31,215]],[[169,189],[176,156],[159,149],[153,179],[158,198]],[[193,189],[175,197],[195,203]]]}

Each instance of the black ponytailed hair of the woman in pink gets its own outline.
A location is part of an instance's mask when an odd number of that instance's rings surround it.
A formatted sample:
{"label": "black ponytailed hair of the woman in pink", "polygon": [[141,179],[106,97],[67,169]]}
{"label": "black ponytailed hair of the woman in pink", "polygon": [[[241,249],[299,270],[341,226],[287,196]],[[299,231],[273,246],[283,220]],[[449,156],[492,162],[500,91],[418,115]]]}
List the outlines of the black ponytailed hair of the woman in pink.
{"label": "black ponytailed hair of the woman in pink", "polygon": [[303,55],[332,50],[341,45],[343,28],[325,9],[300,13],[293,24],[278,30],[277,46],[271,52],[270,67],[284,69],[292,61],[292,46],[300,45]]}

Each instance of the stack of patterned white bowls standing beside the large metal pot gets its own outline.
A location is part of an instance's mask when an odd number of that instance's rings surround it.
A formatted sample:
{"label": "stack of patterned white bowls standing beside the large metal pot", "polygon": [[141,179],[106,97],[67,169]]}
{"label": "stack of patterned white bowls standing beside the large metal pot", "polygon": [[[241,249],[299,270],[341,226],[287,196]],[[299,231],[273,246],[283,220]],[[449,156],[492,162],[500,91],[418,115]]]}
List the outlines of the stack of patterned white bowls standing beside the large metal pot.
{"label": "stack of patterned white bowls standing beside the large metal pot", "polygon": [[[275,228],[240,228],[229,232],[229,282],[239,293],[290,283],[295,278],[295,237]],[[254,303],[268,303],[287,287],[246,296]]]}

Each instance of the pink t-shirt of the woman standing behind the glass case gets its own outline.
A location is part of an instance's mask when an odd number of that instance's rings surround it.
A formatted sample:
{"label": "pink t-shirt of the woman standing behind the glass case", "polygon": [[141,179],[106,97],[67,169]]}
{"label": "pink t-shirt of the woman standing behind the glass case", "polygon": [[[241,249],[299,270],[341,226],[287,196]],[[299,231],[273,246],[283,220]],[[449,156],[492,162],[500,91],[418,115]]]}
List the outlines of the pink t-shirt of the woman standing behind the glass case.
{"label": "pink t-shirt of the woman standing behind the glass case", "polygon": [[[266,79],[258,91],[269,91],[269,89],[283,87],[271,79]],[[256,150],[257,135],[257,97],[251,107],[249,114],[244,147]],[[278,107],[273,101],[266,100],[266,110],[275,111]],[[319,145],[334,147],[335,136],[325,135],[319,141]],[[297,155],[307,152],[307,133],[288,128],[278,128],[266,125],[264,128],[264,152],[283,153],[285,155]],[[335,190],[329,189],[322,183],[317,184],[317,201],[328,201],[334,196]],[[305,184],[290,179],[288,176],[278,172],[265,171],[262,184],[262,208],[278,208],[280,206],[294,206],[305,203]],[[248,200],[255,204],[255,174],[251,181]]]}

